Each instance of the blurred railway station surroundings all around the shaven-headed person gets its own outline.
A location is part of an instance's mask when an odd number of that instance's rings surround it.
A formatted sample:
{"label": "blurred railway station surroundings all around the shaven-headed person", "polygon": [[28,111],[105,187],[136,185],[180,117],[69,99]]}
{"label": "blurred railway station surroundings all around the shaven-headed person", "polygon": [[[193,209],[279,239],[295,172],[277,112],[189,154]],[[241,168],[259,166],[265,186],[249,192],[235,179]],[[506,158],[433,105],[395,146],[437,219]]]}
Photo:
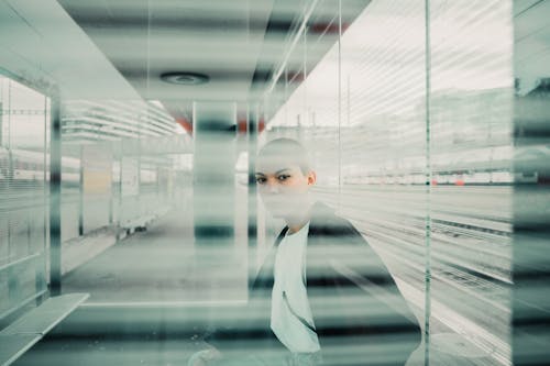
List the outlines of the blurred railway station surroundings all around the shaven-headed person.
{"label": "blurred railway station surroundings all around the shaven-headed person", "polygon": [[15,364],[184,365],[245,315],[284,226],[254,156],[282,136],[420,323],[409,365],[547,364],[549,19],[548,0],[1,0],[0,326],[89,293]]}

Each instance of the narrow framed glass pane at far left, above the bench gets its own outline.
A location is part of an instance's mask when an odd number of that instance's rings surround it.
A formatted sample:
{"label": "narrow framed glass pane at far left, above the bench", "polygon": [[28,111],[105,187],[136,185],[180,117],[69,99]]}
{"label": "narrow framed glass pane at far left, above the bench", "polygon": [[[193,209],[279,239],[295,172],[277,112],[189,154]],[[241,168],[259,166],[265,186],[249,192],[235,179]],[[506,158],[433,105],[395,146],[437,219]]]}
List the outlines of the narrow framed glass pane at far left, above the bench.
{"label": "narrow framed glass pane at far left, above the bench", "polygon": [[0,75],[0,319],[46,290],[50,111]]}

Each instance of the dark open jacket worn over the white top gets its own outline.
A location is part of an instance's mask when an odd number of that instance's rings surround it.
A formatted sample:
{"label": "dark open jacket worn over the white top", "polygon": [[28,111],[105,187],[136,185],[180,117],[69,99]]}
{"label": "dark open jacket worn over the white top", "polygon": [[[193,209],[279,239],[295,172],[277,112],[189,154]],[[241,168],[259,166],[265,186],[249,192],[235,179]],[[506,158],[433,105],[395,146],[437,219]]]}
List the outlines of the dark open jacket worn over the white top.
{"label": "dark open jacket worn over the white top", "polygon": [[[275,254],[287,230],[251,287],[246,320],[212,334],[216,346],[286,352],[270,320]],[[386,266],[348,220],[322,203],[312,208],[306,281],[323,365],[404,365],[420,344],[418,322]]]}

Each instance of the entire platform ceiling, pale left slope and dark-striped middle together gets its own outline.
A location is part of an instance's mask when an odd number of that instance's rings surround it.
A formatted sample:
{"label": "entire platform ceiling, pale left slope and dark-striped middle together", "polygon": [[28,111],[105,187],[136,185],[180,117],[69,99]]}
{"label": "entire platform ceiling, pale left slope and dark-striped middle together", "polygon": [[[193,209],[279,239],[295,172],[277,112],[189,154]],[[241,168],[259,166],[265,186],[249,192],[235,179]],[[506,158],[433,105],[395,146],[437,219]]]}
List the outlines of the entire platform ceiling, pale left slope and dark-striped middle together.
{"label": "entire platform ceiling, pale left slope and dark-striped middle together", "polygon": [[[344,29],[369,2],[343,2]],[[311,70],[338,40],[338,0],[0,0],[0,65],[32,84],[59,87],[65,99],[158,100],[177,118],[189,115],[193,101],[262,96],[283,64],[289,76],[305,64]],[[307,37],[290,49],[310,8]],[[160,78],[168,71],[206,74],[210,81],[170,85]],[[295,78],[290,88],[300,81]]]}

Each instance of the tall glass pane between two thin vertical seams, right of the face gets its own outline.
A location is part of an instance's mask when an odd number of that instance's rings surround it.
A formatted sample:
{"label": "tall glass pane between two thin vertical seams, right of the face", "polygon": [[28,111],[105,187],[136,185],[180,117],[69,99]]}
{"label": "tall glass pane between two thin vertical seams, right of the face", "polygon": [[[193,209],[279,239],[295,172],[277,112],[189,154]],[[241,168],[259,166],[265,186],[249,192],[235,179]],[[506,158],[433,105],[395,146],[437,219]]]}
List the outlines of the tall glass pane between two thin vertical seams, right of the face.
{"label": "tall glass pane between two thin vertical seams, right of the face", "polygon": [[387,267],[402,298],[387,306],[407,319],[386,320],[403,326],[376,347],[386,362],[424,359],[419,331],[406,331],[425,323],[424,14],[421,1],[373,1],[342,37],[340,212]]}

